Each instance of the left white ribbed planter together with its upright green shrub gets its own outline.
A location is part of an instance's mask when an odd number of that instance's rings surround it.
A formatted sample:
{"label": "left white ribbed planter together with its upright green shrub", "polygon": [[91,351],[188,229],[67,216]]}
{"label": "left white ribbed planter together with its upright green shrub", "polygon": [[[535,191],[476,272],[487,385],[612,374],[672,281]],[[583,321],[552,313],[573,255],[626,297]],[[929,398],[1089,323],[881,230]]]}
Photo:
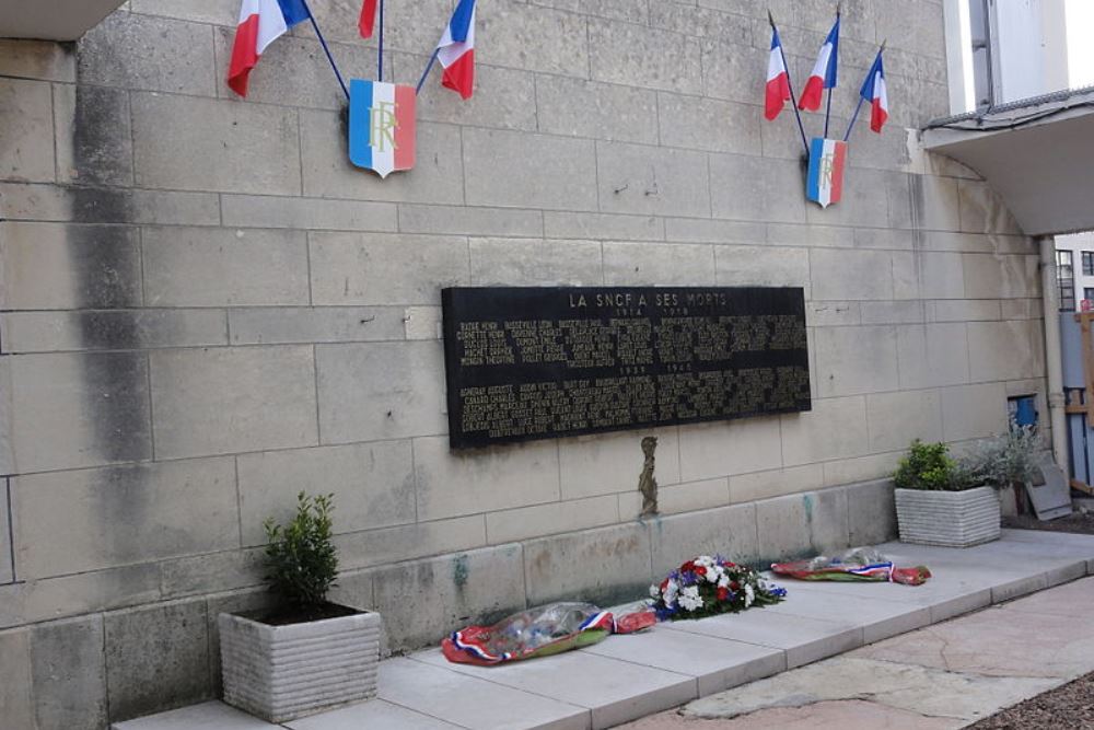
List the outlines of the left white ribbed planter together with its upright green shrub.
{"label": "left white ribbed planter together with its upright green shrub", "polygon": [[270,722],[376,694],[380,614],[326,600],[338,573],[330,499],[300,493],[291,522],[266,521],[280,605],[218,616],[224,702]]}

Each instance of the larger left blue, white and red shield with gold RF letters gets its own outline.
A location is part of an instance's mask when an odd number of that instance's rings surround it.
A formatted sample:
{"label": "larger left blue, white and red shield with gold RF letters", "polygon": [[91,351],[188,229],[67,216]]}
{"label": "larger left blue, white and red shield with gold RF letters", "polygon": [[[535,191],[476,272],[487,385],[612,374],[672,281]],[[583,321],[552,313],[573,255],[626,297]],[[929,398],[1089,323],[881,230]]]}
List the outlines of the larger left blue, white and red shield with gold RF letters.
{"label": "larger left blue, white and red shield with gold RF letters", "polygon": [[415,157],[415,89],[381,81],[349,82],[349,159],[387,177]]}

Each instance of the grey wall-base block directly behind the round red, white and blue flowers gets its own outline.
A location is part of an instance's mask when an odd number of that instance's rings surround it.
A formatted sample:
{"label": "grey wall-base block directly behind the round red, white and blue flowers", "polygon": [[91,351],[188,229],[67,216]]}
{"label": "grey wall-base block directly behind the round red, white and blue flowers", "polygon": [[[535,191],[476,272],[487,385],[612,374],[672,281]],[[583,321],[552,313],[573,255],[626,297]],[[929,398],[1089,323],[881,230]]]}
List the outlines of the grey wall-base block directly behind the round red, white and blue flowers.
{"label": "grey wall-base block directly behind the round red, white and blue flowers", "polygon": [[660,517],[647,524],[655,581],[696,555],[721,555],[743,564],[752,564],[759,557],[755,505]]}

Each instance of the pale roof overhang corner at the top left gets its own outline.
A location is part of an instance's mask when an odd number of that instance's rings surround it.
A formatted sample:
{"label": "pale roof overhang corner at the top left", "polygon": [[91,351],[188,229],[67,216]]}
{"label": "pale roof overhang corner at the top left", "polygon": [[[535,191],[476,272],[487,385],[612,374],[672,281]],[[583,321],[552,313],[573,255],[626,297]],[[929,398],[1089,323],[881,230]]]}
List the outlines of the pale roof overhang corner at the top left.
{"label": "pale roof overhang corner at the top left", "polygon": [[124,0],[0,0],[0,38],[75,40]]}

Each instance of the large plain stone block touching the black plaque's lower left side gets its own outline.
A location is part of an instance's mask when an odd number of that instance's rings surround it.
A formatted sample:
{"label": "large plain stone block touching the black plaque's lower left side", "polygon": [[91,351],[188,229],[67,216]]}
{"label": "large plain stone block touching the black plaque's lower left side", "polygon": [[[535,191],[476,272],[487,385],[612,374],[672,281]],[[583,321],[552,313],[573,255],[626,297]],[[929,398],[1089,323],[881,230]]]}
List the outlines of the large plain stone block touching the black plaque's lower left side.
{"label": "large plain stone block touching the black plaque's lower left side", "polygon": [[315,359],[323,443],[447,429],[440,343],[318,345]]}

